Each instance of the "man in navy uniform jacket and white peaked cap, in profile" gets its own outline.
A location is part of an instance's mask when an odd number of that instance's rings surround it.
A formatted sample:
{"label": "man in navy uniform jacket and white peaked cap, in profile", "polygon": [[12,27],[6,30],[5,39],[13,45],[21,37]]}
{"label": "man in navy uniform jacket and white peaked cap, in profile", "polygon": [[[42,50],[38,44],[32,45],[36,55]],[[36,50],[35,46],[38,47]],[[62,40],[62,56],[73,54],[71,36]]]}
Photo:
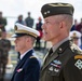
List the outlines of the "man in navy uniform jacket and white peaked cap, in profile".
{"label": "man in navy uniform jacket and white peaked cap, in profile", "polygon": [[27,26],[15,24],[15,51],[19,52],[18,62],[11,81],[39,81],[40,63],[33,51],[35,39],[39,32]]}

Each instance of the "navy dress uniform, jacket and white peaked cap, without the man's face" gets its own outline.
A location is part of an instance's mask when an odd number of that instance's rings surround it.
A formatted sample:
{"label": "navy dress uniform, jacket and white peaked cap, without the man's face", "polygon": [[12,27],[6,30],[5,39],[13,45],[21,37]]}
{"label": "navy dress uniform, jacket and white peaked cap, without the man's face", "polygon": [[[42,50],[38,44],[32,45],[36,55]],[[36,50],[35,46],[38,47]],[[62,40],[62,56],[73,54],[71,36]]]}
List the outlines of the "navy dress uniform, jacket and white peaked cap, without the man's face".
{"label": "navy dress uniform, jacket and white peaked cap, without the man's face", "polygon": [[[39,32],[27,26],[15,24],[15,35],[13,38],[23,37],[25,35],[37,38]],[[11,81],[39,81],[40,62],[36,56],[33,49],[27,50],[24,57],[18,62]]]}

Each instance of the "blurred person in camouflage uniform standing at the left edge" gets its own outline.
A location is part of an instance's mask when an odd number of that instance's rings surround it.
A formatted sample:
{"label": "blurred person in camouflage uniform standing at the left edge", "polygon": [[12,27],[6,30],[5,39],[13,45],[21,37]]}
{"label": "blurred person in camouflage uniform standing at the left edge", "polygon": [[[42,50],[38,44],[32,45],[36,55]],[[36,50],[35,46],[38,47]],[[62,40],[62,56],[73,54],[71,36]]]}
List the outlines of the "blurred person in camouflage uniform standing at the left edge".
{"label": "blurred person in camouflage uniform standing at the left edge", "polygon": [[1,81],[4,78],[5,75],[5,67],[8,64],[8,56],[9,51],[11,50],[11,42],[6,39],[6,32],[1,32],[1,39],[0,39],[0,77]]}

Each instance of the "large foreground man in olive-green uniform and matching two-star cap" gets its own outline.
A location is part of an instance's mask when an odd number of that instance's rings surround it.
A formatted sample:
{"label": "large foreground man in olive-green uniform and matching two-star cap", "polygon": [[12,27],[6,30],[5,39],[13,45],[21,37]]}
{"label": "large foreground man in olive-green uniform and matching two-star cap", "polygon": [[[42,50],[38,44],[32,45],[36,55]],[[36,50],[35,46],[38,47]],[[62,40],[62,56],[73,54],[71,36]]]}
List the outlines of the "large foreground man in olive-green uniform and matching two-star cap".
{"label": "large foreground man in olive-green uniform and matching two-star cap", "polygon": [[52,48],[44,57],[40,81],[82,81],[82,51],[68,39],[73,11],[71,4],[62,2],[41,8],[43,38]]}

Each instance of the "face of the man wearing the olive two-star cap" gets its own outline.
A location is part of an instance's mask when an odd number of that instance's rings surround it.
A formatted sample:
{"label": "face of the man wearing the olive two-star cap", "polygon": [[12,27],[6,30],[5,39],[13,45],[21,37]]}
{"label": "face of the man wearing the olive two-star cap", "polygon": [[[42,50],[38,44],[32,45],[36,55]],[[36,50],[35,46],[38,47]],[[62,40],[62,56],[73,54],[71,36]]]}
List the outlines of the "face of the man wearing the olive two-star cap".
{"label": "face of the man wearing the olive two-star cap", "polygon": [[44,19],[44,24],[42,25],[43,29],[43,38],[45,41],[56,41],[59,37],[60,28],[59,23],[56,21],[57,18],[50,16]]}

